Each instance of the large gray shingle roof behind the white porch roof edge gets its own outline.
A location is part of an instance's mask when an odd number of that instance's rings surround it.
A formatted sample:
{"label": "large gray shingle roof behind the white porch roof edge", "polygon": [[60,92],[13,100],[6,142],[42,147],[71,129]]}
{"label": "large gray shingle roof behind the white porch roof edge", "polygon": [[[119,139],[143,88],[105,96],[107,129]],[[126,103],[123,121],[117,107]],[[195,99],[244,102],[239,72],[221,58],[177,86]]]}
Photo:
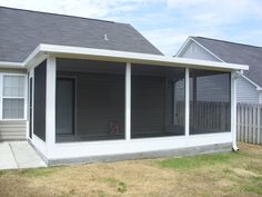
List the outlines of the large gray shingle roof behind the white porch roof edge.
{"label": "large gray shingle roof behind the white porch roof edge", "polygon": [[23,61],[39,43],[162,55],[127,23],[0,7],[0,61]]}

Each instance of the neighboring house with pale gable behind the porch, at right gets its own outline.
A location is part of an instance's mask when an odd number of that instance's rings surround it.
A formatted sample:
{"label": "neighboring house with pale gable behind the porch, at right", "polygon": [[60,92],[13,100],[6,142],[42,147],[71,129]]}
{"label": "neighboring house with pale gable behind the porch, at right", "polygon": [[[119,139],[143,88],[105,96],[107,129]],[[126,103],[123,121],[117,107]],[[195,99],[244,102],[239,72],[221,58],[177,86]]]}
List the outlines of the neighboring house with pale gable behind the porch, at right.
{"label": "neighboring house with pale gable behind the porch, at right", "polygon": [[262,47],[189,37],[175,57],[249,65],[238,79],[238,102],[262,104]]}

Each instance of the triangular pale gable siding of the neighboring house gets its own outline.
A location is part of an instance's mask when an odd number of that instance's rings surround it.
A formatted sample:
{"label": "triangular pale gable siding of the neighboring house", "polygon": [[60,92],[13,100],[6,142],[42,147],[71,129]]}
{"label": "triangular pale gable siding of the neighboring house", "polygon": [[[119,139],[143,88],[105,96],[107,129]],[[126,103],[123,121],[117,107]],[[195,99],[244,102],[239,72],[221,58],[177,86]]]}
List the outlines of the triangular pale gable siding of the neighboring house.
{"label": "triangular pale gable siding of the neighboring house", "polygon": [[208,51],[205,51],[194,42],[191,42],[180,57],[190,59],[202,59],[209,61],[219,61],[216,58],[211,56]]}

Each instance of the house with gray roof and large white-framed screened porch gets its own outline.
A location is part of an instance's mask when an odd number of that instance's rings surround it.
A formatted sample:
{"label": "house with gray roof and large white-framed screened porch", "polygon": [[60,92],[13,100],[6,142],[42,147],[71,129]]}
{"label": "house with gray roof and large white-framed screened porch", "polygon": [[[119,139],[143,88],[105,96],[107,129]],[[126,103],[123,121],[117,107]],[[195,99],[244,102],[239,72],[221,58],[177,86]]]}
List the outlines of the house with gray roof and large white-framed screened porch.
{"label": "house with gray roof and large white-framed screened porch", "polygon": [[0,139],[50,165],[236,149],[249,67],[165,57],[130,24],[0,7]]}

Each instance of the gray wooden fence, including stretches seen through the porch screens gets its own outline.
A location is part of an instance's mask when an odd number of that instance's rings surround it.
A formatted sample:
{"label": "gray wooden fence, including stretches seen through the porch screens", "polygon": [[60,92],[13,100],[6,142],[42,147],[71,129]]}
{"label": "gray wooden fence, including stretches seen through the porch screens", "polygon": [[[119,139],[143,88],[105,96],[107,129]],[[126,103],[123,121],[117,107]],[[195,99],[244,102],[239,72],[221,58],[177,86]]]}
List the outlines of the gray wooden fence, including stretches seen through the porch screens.
{"label": "gray wooden fence, including stretches seen through the porch screens", "polygon": [[[215,131],[230,130],[231,107],[229,102],[190,102],[190,127]],[[177,105],[178,125],[184,124],[184,104]],[[194,116],[193,116],[194,115]],[[262,105],[236,105],[238,141],[262,145]]]}

